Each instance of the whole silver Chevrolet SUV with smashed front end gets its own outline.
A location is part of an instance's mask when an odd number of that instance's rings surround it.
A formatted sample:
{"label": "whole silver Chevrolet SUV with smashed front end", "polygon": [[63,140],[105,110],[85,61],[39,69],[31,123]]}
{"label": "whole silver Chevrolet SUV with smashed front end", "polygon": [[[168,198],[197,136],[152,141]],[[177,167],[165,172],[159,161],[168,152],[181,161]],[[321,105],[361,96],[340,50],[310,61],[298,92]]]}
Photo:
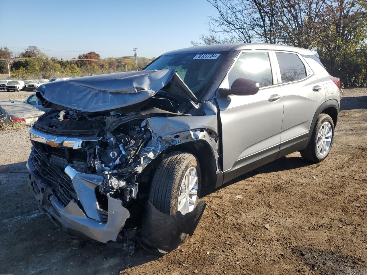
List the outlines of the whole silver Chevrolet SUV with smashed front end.
{"label": "whole silver Chevrolet SUV with smashed front end", "polygon": [[[226,44],[167,52],[138,72],[41,85],[29,188],[71,235],[166,253],[193,234],[200,191],[300,151],[327,157],[340,95],[308,49]],[[129,231],[129,232],[128,232]]]}

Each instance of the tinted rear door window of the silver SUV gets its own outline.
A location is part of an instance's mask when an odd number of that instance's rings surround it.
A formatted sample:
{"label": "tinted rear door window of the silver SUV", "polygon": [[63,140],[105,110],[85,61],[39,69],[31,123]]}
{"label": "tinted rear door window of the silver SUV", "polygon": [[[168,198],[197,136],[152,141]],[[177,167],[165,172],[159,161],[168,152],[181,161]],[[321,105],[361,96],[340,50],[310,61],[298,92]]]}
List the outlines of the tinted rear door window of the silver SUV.
{"label": "tinted rear door window of the silver SUV", "polygon": [[276,52],[279,63],[281,83],[300,80],[306,77],[305,65],[297,54]]}

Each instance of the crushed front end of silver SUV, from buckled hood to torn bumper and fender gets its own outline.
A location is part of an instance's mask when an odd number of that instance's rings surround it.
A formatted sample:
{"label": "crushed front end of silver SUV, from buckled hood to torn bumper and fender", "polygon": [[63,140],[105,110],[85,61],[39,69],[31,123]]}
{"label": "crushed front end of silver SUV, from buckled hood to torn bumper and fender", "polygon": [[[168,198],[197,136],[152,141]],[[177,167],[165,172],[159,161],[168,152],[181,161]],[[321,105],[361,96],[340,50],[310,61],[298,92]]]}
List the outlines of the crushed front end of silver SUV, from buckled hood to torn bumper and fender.
{"label": "crushed front end of silver SUV, from buckled hood to torn bumper and fender", "polygon": [[[172,96],[178,93],[189,96]],[[197,107],[195,96],[174,70],[55,81],[36,96],[53,110],[29,131],[29,189],[56,225],[77,238],[107,243],[140,224],[140,239],[160,252],[171,246],[146,232],[163,226],[179,231],[177,236],[192,234],[204,203],[183,216],[161,213],[159,225],[152,222],[157,213],[148,201],[155,169],[171,147],[207,142],[218,159],[217,116],[189,114]]]}

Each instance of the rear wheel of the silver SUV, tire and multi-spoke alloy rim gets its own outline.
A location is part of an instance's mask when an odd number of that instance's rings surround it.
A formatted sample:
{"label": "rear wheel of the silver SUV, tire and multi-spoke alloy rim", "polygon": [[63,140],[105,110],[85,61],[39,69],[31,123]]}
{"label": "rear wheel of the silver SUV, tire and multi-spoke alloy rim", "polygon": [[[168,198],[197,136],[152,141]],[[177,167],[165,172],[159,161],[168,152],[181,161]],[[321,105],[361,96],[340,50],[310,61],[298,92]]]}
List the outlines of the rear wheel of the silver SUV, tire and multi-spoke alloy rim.
{"label": "rear wheel of the silver SUV, tire and multi-spoke alloy rim", "polygon": [[[329,128],[325,128],[329,125]],[[323,127],[323,129],[321,129]],[[331,128],[331,135],[330,134]],[[326,133],[324,133],[324,131]],[[326,136],[327,135],[327,136]],[[329,139],[330,137],[330,139]],[[328,143],[330,140],[330,143]],[[334,141],[334,122],[328,114],[319,114],[307,147],[301,151],[302,158],[311,162],[323,161],[330,153]],[[318,146],[319,144],[319,146]],[[321,144],[321,147],[320,147]],[[327,144],[329,144],[327,146]]]}

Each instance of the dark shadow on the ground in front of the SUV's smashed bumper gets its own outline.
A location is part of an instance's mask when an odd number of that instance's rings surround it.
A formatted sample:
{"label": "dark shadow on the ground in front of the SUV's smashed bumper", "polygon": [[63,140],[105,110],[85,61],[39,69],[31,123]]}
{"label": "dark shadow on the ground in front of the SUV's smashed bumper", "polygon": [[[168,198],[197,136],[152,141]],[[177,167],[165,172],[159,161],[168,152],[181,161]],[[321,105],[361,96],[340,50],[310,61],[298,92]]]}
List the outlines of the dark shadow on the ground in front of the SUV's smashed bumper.
{"label": "dark shadow on the ground in front of the SUV's smashed bumper", "polygon": [[25,162],[0,171],[6,171],[0,172],[0,274],[119,274],[159,258],[136,242],[129,256],[102,243],[71,239],[38,209]]}

